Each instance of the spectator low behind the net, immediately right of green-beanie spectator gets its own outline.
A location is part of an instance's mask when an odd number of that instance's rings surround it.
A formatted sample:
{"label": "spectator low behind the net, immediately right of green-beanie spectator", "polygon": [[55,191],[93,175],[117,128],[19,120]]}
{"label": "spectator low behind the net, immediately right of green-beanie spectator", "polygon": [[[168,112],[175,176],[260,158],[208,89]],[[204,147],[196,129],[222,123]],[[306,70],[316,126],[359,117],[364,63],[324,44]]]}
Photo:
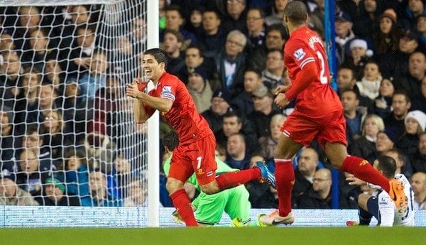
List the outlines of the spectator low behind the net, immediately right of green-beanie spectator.
{"label": "spectator low behind the net, immediately right of green-beanie spectator", "polygon": [[95,169],[89,174],[90,196],[94,207],[121,207],[120,200],[111,198],[107,191],[107,175]]}

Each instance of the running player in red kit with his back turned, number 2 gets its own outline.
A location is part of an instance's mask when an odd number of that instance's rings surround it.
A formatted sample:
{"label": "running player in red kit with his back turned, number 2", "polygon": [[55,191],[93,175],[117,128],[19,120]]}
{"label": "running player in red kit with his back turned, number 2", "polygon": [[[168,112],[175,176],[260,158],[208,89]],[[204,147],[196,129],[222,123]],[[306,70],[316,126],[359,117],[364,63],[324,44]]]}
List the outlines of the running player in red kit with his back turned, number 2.
{"label": "running player in red kit with his back turned, number 2", "polygon": [[[296,99],[295,110],[285,120],[278,146],[275,148],[275,187],[278,210],[260,214],[259,224],[271,226],[292,224],[291,192],[295,181],[292,158],[302,146],[316,139],[332,165],[357,178],[383,187],[391,195],[398,209],[406,209],[407,197],[403,183],[387,180],[362,158],[349,156],[346,150],[346,122],[342,103],[329,86],[329,68],[322,39],[307,28],[307,9],[301,1],[285,6],[284,21],[290,38],[285,43],[284,62],[291,84],[275,90],[275,103],[285,107]],[[405,213],[405,212],[402,212]]]}

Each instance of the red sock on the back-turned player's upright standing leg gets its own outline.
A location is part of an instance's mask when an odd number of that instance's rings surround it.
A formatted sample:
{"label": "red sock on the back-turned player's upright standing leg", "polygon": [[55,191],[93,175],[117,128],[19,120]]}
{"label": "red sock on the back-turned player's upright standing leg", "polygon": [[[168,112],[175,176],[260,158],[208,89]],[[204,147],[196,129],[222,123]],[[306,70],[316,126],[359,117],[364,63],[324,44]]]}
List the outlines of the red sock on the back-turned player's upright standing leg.
{"label": "red sock on the back-turned player's upright standing leg", "polygon": [[278,210],[281,217],[286,217],[291,212],[291,192],[295,184],[295,170],[290,159],[274,159],[274,162]]}

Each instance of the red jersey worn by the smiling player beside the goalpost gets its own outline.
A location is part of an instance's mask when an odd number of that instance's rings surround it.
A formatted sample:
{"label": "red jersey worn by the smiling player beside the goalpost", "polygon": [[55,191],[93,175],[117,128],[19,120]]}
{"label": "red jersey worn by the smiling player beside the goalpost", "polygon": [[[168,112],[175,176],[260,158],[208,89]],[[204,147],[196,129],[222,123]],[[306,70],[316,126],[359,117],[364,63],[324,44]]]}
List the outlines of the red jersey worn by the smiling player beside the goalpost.
{"label": "red jersey worn by the smiling player beside the goalpost", "polygon": [[173,101],[170,111],[160,111],[160,114],[178,132],[181,145],[213,135],[206,119],[198,113],[190,93],[178,77],[164,72],[148,94]]}

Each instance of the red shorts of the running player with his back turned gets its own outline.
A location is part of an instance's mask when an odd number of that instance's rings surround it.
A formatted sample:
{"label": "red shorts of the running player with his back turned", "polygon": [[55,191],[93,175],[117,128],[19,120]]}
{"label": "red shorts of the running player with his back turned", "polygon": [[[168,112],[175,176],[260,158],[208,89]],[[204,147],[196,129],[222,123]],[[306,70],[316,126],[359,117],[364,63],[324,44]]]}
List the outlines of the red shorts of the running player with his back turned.
{"label": "red shorts of the running player with his back turned", "polygon": [[343,110],[307,116],[295,109],[285,119],[280,131],[303,146],[309,146],[314,139],[323,149],[326,142],[347,145]]}

